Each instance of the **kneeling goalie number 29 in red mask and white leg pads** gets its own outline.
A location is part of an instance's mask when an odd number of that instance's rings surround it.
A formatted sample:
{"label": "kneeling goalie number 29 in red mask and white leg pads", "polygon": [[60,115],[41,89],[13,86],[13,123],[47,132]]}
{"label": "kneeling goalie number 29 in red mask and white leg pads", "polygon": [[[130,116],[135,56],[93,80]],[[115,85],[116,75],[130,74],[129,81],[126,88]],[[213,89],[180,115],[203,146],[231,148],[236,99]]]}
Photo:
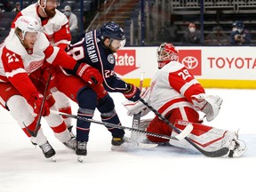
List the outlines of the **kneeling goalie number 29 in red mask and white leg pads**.
{"label": "kneeling goalie number 29 in red mask and white leg pads", "polygon": [[[159,70],[151,79],[150,88],[141,94],[175,127],[182,131],[187,124],[193,125],[188,138],[205,151],[215,151],[228,148],[224,156],[241,156],[245,144],[238,140],[236,132],[216,129],[202,124],[197,111],[205,114],[207,121],[212,121],[220,112],[222,99],[218,95],[208,95],[201,84],[191,75],[183,64],[178,61],[179,52],[172,44],[161,44],[157,49],[157,62]],[[150,111],[142,102],[126,102],[128,115],[132,116],[141,111],[145,116]],[[172,128],[165,124],[158,116],[146,124],[148,132],[176,136]],[[169,142],[172,146],[195,149],[187,140],[165,140],[147,136],[148,140],[156,143]]]}

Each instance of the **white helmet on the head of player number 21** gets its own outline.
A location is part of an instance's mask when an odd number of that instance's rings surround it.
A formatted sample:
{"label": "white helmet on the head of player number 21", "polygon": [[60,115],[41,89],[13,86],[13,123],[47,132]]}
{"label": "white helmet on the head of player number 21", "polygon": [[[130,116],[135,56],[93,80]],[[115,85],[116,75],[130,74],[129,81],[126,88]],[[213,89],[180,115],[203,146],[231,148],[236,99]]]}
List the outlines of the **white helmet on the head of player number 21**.
{"label": "white helmet on the head of player number 21", "polygon": [[40,32],[41,25],[38,20],[28,17],[28,16],[20,16],[18,20],[15,22],[15,28],[20,28],[22,33],[22,39],[24,40],[24,36],[27,32]]}

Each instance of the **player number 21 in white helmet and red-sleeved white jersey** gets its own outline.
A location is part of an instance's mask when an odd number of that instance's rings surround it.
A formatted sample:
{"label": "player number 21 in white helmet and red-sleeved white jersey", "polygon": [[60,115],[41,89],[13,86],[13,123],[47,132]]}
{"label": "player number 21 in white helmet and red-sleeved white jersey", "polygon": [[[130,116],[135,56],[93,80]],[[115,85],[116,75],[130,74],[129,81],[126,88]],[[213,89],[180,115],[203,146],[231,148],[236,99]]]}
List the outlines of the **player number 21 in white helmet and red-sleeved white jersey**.
{"label": "player number 21 in white helmet and red-sleeved white jersey", "polygon": [[[54,149],[41,129],[37,134],[34,132],[37,128],[36,123],[41,105],[44,104],[42,116],[51,126],[55,137],[75,150],[76,138],[71,138],[66,124],[59,115],[50,113],[50,108],[58,110],[51,93],[47,93],[45,103],[43,103],[42,94],[45,88],[43,91],[40,89],[42,85],[43,87],[45,85],[35,82],[36,78],[32,82],[31,75],[35,76],[33,72],[41,68],[61,66],[73,71],[74,74],[77,72],[82,78],[81,81],[88,83],[92,81],[92,77],[96,81],[102,79],[99,71],[92,67],[84,69],[84,63],[77,63],[64,50],[49,44],[46,36],[41,32],[39,22],[28,16],[20,16],[16,21],[14,33],[7,36],[4,44],[0,46],[0,58],[0,104],[10,111],[31,141],[42,148],[44,156],[49,158],[55,155]],[[98,73],[100,78],[92,75],[91,72]]]}

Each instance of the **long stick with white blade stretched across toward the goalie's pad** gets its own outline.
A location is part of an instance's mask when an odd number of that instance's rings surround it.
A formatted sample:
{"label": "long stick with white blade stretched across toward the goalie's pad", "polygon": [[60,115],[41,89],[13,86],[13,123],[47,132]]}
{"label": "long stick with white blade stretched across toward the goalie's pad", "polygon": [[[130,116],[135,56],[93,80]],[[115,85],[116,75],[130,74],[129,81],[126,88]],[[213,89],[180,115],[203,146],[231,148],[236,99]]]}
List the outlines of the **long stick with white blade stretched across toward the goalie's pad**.
{"label": "long stick with white blade stretched across toward the goalie's pad", "polygon": [[94,123],[94,124],[103,124],[105,126],[114,127],[114,128],[117,128],[117,129],[129,130],[131,132],[138,132],[138,133],[141,133],[141,134],[146,134],[146,135],[150,135],[150,136],[153,136],[153,137],[158,137],[158,138],[162,138],[162,139],[166,139],[166,140],[180,140],[180,138],[182,139],[182,137],[183,138],[186,137],[188,135],[189,131],[191,132],[191,130],[184,130],[183,132],[180,132],[180,134],[178,134],[177,136],[175,136],[175,137],[171,136],[170,137],[170,136],[167,136],[167,135],[164,135],[164,134],[158,134],[158,133],[155,133],[155,132],[146,132],[146,131],[134,129],[134,128],[131,128],[131,127],[122,126],[122,125],[119,125],[119,124],[110,124],[110,123],[107,123],[107,122],[100,122],[100,121],[97,121],[97,120],[94,120],[94,119],[88,119],[84,116],[70,115],[70,114],[63,113],[63,112],[56,111],[56,110],[52,110],[52,109],[51,109],[51,113],[57,114],[57,115],[60,115],[60,116],[69,116],[69,117],[72,117],[72,118],[75,118],[75,119],[79,119],[79,120],[86,121],[86,122],[91,122],[91,123]]}

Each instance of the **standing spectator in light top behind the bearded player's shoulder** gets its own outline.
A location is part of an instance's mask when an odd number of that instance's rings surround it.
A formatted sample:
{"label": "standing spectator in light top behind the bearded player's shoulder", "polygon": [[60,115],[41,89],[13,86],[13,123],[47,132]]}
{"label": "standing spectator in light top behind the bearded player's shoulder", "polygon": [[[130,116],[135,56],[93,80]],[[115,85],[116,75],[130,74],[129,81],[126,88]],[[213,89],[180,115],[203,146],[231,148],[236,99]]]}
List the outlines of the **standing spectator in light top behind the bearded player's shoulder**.
{"label": "standing spectator in light top behind the bearded player's shoulder", "polygon": [[74,14],[73,12],[71,12],[71,7],[69,5],[66,5],[64,7],[64,14],[66,15],[66,17],[68,18],[69,21],[69,29],[71,32],[71,44],[74,44],[77,42],[77,37],[78,37],[78,21],[77,21],[77,17],[76,14]]}

